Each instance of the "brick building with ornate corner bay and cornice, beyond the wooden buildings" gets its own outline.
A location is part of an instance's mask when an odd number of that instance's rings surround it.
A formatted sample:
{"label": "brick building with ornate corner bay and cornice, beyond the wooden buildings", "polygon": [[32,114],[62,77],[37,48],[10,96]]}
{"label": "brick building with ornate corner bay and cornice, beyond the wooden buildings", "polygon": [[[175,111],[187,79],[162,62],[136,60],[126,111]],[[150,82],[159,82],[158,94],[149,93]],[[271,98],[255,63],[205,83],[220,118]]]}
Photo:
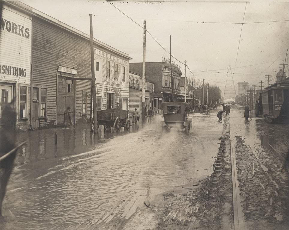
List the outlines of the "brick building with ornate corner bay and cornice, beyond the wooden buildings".
{"label": "brick building with ornate corner bay and cornice, beyond the wooden buildings", "polygon": [[[153,107],[162,108],[162,102],[171,101],[171,70],[173,72],[174,94],[180,93],[180,77],[182,72],[180,66],[170,63],[168,59],[162,59],[160,62],[145,63],[145,78],[154,84]],[[130,71],[142,76],[142,62],[130,63]]]}

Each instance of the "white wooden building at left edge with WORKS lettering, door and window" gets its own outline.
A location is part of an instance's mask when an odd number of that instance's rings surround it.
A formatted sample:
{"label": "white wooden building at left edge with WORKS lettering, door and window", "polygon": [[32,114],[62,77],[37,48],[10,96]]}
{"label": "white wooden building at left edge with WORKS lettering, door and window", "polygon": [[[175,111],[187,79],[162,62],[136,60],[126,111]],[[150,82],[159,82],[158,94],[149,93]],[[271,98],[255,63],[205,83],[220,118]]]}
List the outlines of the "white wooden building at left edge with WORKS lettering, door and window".
{"label": "white wooden building at left edge with WORKS lettering, door and window", "polygon": [[18,130],[27,130],[31,121],[31,27],[29,14],[4,2],[0,24],[1,104],[12,102]]}

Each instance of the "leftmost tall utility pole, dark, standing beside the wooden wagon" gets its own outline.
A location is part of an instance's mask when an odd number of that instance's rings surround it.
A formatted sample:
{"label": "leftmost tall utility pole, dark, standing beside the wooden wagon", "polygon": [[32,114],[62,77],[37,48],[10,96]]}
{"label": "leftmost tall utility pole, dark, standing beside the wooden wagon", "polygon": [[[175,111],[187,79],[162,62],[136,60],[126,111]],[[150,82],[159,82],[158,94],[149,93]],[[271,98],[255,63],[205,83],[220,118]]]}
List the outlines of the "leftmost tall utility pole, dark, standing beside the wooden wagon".
{"label": "leftmost tall utility pole, dark, standing beside the wooden wagon", "polygon": [[92,14],[89,15],[89,22],[90,22],[90,57],[91,57],[91,84],[92,84],[93,122],[94,122],[94,134],[96,134],[97,133],[97,105],[96,105],[95,72],[94,72]]}

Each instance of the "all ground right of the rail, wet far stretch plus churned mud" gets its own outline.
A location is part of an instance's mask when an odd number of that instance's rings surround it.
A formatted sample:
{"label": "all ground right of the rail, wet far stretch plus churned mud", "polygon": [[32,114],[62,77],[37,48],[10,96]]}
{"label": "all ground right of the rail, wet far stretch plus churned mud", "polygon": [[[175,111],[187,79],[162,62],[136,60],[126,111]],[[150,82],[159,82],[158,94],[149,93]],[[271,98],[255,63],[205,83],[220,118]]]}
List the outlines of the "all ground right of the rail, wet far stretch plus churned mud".
{"label": "all ground right of the rail, wet far stretch plus churned mud", "polygon": [[289,125],[262,118],[245,121],[243,115],[243,108],[231,109],[230,136],[245,229],[288,229],[288,173],[281,169],[288,152]]}

